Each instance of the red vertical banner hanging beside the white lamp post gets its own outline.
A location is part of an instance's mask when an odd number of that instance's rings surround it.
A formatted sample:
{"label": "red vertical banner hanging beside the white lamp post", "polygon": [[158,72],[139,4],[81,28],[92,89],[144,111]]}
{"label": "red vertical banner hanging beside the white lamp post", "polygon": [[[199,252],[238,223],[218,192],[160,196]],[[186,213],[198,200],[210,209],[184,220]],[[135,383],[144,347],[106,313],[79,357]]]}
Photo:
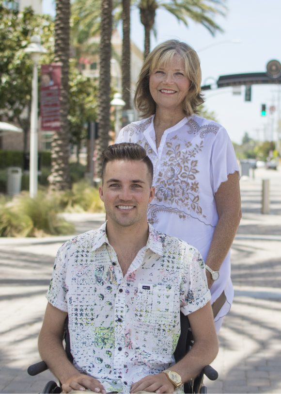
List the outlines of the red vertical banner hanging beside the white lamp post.
{"label": "red vertical banner hanging beside the white lamp post", "polygon": [[41,66],[40,112],[41,130],[60,130],[60,88],[62,67]]}

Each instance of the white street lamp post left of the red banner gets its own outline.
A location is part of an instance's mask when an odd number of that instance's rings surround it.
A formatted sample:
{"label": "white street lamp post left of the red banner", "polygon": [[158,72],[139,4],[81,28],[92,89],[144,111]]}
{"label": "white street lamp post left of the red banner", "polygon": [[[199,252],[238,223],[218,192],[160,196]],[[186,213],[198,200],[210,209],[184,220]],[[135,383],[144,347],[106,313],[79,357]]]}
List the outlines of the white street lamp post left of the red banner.
{"label": "white street lamp post left of the red banner", "polygon": [[36,197],[38,190],[38,62],[42,53],[47,52],[41,45],[39,35],[31,37],[31,43],[24,49],[30,53],[33,62],[31,90],[31,123],[30,123],[30,173],[29,194]]}

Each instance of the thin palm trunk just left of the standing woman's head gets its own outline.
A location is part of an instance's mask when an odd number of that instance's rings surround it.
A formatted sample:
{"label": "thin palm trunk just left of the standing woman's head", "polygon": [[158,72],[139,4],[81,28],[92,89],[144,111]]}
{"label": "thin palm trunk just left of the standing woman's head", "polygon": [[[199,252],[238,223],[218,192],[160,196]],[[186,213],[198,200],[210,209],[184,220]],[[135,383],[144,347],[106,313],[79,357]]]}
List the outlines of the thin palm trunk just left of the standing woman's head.
{"label": "thin palm trunk just left of the standing woman's head", "polygon": [[122,42],[122,97],[125,110],[131,108],[131,46],[130,46],[130,0],[123,0],[123,42]]}

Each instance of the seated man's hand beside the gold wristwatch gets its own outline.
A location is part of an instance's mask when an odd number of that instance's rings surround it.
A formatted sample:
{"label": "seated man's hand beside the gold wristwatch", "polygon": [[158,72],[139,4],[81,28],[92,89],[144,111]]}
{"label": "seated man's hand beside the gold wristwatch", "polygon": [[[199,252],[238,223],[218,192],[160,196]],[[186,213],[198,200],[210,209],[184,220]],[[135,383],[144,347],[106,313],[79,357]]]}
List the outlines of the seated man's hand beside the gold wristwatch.
{"label": "seated man's hand beside the gold wristwatch", "polygon": [[150,393],[173,393],[174,385],[163,373],[148,375],[132,384],[130,393],[148,391]]}

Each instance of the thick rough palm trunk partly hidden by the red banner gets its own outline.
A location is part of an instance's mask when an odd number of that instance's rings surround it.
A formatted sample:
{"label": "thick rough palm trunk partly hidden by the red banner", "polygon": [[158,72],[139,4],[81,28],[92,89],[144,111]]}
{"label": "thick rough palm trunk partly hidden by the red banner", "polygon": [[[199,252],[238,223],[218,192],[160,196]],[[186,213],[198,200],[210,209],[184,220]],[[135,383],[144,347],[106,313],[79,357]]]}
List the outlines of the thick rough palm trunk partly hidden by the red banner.
{"label": "thick rough palm trunk partly hidden by the red banner", "polygon": [[56,1],[55,17],[55,60],[62,66],[60,92],[61,127],[55,131],[51,148],[51,175],[49,177],[51,190],[70,188],[69,175],[69,30],[70,30],[70,0]]}

